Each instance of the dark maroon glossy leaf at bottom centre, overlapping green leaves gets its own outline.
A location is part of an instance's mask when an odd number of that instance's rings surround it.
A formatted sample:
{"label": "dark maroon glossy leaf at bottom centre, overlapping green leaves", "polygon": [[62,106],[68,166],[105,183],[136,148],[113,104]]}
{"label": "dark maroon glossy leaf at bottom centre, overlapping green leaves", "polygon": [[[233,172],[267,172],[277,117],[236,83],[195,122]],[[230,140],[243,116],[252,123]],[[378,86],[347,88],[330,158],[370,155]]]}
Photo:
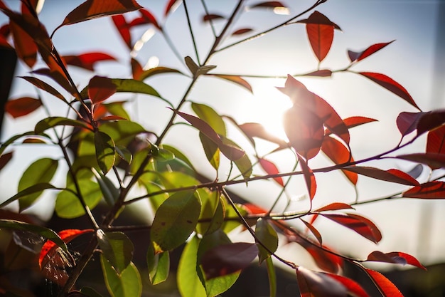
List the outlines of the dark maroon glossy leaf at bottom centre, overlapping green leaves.
{"label": "dark maroon glossy leaf at bottom centre, overlapping green leaves", "polygon": [[257,255],[256,244],[246,242],[223,244],[206,251],[201,259],[201,265],[208,280],[245,269]]}

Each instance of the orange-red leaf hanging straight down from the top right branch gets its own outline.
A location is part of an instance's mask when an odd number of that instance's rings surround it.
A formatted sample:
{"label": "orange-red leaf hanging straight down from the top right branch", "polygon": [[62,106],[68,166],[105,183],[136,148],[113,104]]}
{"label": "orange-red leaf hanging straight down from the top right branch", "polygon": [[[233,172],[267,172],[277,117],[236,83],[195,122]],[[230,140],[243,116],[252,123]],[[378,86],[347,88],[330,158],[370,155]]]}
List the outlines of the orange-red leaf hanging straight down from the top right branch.
{"label": "orange-red leaf hanging straight down from the top right branch", "polygon": [[323,61],[331,48],[333,30],[334,28],[341,30],[340,27],[318,11],[313,11],[308,19],[298,21],[297,23],[306,24],[306,32],[313,53],[315,53],[318,61]]}

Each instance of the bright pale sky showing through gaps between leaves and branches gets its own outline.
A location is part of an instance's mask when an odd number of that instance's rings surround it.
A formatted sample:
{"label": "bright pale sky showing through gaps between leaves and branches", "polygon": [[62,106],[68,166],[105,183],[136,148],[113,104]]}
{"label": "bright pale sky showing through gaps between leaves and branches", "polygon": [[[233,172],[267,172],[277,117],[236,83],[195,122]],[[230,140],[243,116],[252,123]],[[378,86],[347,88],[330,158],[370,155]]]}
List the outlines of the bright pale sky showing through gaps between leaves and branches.
{"label": "bright pale sky showing through gaps between leaves and branches", "polygon": [[[17,0],[6,0],[11,7],[17,6]],[[139,0],[141,6],[162,19],[165,1]],[[191,17],[198,19],[203,12],[198,6],[198,1],[189,1],[191,4]],[[236,1],[206,1],[210,12],[223,15],[230,14],[230,9]],[[247,1],[247,4],[255,4],[259,1]],[[290,13],[302,11],[309,7],[313,1],[282,1],[289,5]],[[48,31],[62,23],[64,16],[74,9],[82,1],[58,1],[46,0],[40,18]],[[322,67],[338,69],[348,64],[347,51],[361,51],[374,43],[389,42],[395,40],[382,51],[354,66],[354,71],[371,71],[384,73],[403,85],[422,110],[433,108],[445,108],[444,96],[444,36],[445,24],[439,14],[444,15],[444,2],[440,1],[366,1],[366,0],[330,0],[317,8],[322,14],[328,16],[331,21],[338,24],[342,31],[336,31],[331,52]],[[306,14],[304,18],[309,16]],[[284,21],[289,16],[272,14],[271,11],[248,11],[240,16],[232,29],[253,28],[254,31],[262,31],[264,28]],[[261,21],[258,21],[258,20]],[[442,18],[444,19],[444,18]],[[0,16],[0,24],[6,19]],[[176,44],[181,56],[195,58],[193,44],[188,32],[183,7],[179,6],[165,24],[166,31]],[[217,29],[223,23],[217,23]],[[200,21],[192,23],[195,38],[198,41],[200,57],[205,56],[208,46],[212,42],[211,31]],[[145,29],[134,31],[135,36],[142,36]],[[227,38],[223,46],[236,41],[235,37]],[[100,63],[96,73],[109,77],[129,78],[129,50],[112,27],[109,18],[87,21],[80,24],[60,28],[53,37],[53,43],[63,55],[84,53],[85,51],[103,51],[115,56],[117,63]],[[159,59],[160,66],[178,68],[186,72],[182,61],[178,61],[169,50],[166,43],[155,34],[144,44],[137,53],[136,58],[144,64],[146,61]],[[294,24],[273,31],[262,38],[254,39],[240,46],[227,49],[215,55],[210,64],[218,66],[215,72],[239,75],[271,75],[282,77],[288,73],[307,73],[315,70],[317,61],[313,56],[309,42],[306,38],[304,25]],[[28,69],[19,66],[16,75],[25,75]],[[73,68],[73,78],[81,86],[86,85],[93,73]],[[168,78],[168,79],[167,79]],[[212,106],[220,114],[232,115],[238,123],[258,122],[264,124],[277,135],[284,136],[281,128],[281,115],[290,107],[289,99],[282,95],[275,87],[284,85],[283,78],[246,78],[252,85],[253,94],[242,90],[230,83],[221,83],[212,78],[203,78],[193,88],[190,95],[192,100]],[[300,79],[300,78],[299,78]],[[395,125],[397,115],[402,111],[414,112],[415,109],[392,93],[380,88],[375,83],[365,80],[353,73],[336,73],[333,78],[301,78],[309,90],[331,103],[342,118],[353,115],[376,118],[378,123],[370,123],[363,127],[351,130],[351,147],[355,160],[369,157],[376,152],[389,150],[397,145],[400,134]],[[188,83],[187,78],[154,78],[149,84],[163,95],[177,102]],[[11,98],[23,95],[35,95],[23,80],[16,81],[11,91]],[[154,98],[139,96],[138,98],[122,98],[132,101],[128,105],[132,118],[139,121],[147,129],[160,132],[168,121],[170,113],[165,104]],[[55,102],[53,98],[46,99],[50,102],[51,113],[60,114],[63,105]],[[190,109],[186,108],[186,111]],[[30,130],[35,123],[44,116],[38,112],[27,118],[14,120],[7,116],[4,123],[2,141],[18,132]],[[227,124],[227,126],[229,126]],[[240,137],[239,132],[229,126],[229,133],[242,147],[247,146],[247,141]],[[186,141],[184,141],[186,140]],[[196,132],[189,128],[175,128],[168,133],[166,142],[172,145],[181,145],[192,162],[198,164],[198,168],[209,177],[214,173],[206,162]],[[198,147],[198,148],[197,148]],[[270,147],[263,144],[259,150],[267,152]],[[422,140],[414,143],[412,148],[404,152],[423,150]],[[14,195],[16,183],[21,172],[26,169],[32,158],[43,156],[60,156],[56,148],[24,146],[14,147],[16,155],[13,162],[0,174],[0,187],[2,194],[0,199],[6,199]],[[250,150],[252,152],[252,150]],[[22,157],[23,156],[23,157]],[[292,159],[289,153],[271,156],[282,172],[291,169]],[[311,166],[326,165],[326,159],[322,157],[313,160]],[[383,169],[395,167],[401,170],[409,170],[414,165],[407,162],[371,162],[370,166],[378,166]],[[14,168],[14,170],[12,170]],[[224,172],[223,168],[223,172]],[[227,170],[227,169],[226,169]],[[261,173],[261,172],[259,172]],[[355,192],[353,187],[338,173],[320,174],[316,176],[318,192],[314,203],[316,205],[330,202],[353,202]],[[64,177],[56,177],[56,181],[63,182]],[[419,179],[427,179],[427,172]],[[274,197],[279,192],[279,187],[273,182],[256,182],[245,187],[240,185],[233,189],[245,195],[247,200],[270,207]],[[304,182],[293,180],[289,187],[291,207],[293,210],[307,209],[308,200],[304,197]],[[361,178],[358,183],[359,199],[372,199],[382,195],[397,192],[403,189],[394,184],[375,182],[367,178]],[[272,199],[271,199],[272,197]],[[42,199],[41,209],[50,209],[48,203],[53,201],[50,195]],[[286,200],[282,199],[279,206],[284,207]],[[38,206],[39,207],[39,206]],[[327,222],[319,222],[317,227],[323,234],[323,240],[337,249],[348,251],[353,256],[365,258],[375,249],[380,251],[405,251],[417,256],[426,264],[433,264],[445,260],[442,251],[445,250],[445,238],[442,236],[445,226],[445,202],[421,201],[419,199],[399,199],[395,201],[365,204],[357,207],[360,214],[372,219],[380,226],[383,240],[379,246],[359,238],[352,231],[343,227],[332,226]],[[30,210],[32,211],[32,209]],[[422,229],[422,226],[430,226]],[[341,240],[339,240],[341,239]],[[351,247],[352,246],[352,247]],[[308,265],[311,265],[310,263]]]}

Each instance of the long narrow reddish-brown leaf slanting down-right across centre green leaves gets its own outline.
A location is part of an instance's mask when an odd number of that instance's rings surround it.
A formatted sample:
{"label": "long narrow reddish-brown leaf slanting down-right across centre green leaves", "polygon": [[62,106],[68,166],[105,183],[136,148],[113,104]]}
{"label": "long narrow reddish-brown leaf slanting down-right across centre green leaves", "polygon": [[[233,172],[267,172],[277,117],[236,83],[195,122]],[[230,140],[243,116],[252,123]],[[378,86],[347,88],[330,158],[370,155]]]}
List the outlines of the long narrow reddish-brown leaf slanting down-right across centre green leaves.
{"label": "long narrow reddish-brown leaf slanting down-right across centre green leaves", "polygon": [[205,123],[200,118],[196,118],[193,115],[188,115],[186,113],[181,113],[180,111],[173,110],[174,113],[177,113],[181,116],[184,120],[186,120],[188,123],[191,123],[191,125],[200,132],[203,132],[203,134],[210,138],[213,142],[215,142],[216,145],[218,145],[218,148],[223,152],[223,154],[229,159],[230,161],[235,161],[240,159],[242,156],[245,155],[245,152],[241,150],[238,147],[232,146],[232,145],[225,145],[223,143],[223,140],[221,139],[220,135],[218,135],[215,130],[213,130],[208,123]]}

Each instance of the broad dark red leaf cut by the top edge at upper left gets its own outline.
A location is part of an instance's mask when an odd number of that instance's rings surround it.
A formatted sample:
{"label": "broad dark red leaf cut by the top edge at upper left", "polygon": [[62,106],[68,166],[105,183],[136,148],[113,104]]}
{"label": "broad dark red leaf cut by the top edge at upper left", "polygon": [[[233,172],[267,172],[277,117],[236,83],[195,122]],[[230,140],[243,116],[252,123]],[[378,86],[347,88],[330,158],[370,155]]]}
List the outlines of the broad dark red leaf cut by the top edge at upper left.
{"label": "broad dark red leaf cut by the top edge at upper left", "polygon": [[63,23],[55,28],[54,31],[58,30],[61,26],[72,25],[102,16],[124,14],[141,8],[142,6],[137,4],[135,0],[107,0],[107,2],[102,0],[87,0],[71,11],[68,16],[65,17]]}

